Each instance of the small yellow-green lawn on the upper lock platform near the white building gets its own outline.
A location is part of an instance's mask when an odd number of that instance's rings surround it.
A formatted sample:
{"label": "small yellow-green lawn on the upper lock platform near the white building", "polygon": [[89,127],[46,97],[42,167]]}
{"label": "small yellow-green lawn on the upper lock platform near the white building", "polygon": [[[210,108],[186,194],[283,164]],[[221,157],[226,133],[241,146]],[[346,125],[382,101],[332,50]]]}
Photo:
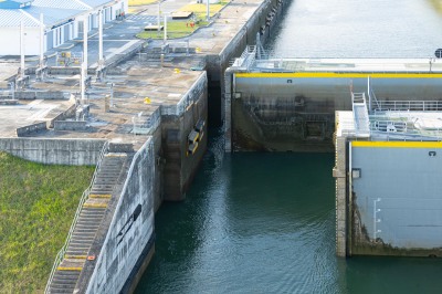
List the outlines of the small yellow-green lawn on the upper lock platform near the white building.
{"label": "small yellow-green lawn on the upper lock platform near the white building", "polygon": [[[228,1],[221,1],[217,4],[210,4],[210,15],[212,17],[217,12],[219,12],[224,6],[227,6]],[[187,4],[180,8],[178,11],[192,11],[194,14],[194,27],[191,28],[190,22],[192,20],[172,20],[167,22],[167,38],[168,39],[177,39],[183,38],[191,34],[198,28],[206,27],[209,22],[206,21],[206,4],[201,3],[192,3]],[[164,23],[161,23],[164,24]],[[140,39],[164,39],[165,32],[160,31],[143,31],[137,34]]]}

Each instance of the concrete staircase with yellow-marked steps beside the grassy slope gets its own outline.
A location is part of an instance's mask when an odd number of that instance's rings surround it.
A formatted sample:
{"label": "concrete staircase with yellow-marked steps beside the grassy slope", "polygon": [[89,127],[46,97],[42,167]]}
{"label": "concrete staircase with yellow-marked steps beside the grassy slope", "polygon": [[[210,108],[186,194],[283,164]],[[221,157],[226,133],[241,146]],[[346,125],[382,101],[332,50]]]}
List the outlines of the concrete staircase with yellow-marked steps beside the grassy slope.
{"label": "concrete staircase with yellow-marked steps beside the grassy slope", "polygon": [[71,240],[51,281],[49,293],[73,293],[88,251],[103,221],[112,192],[117,183],[126,154],[107,154],[96,174],[90,196],[84,202],[74,227]]}

